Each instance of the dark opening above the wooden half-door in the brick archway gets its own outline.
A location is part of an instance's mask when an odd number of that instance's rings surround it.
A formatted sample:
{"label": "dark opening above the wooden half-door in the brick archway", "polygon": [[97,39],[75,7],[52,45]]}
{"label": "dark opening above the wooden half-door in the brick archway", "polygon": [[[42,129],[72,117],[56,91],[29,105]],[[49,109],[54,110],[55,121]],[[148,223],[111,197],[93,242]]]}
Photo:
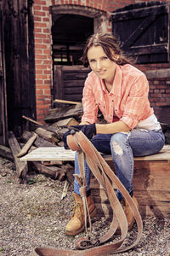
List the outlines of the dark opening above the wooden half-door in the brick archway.
{"label": "dark opening above the wooden half-door in the brick archway", "polygon": [[57,15],[54,19],[54,65],[81,65],[82,47],[94,33],[94,19],[82,15]]}

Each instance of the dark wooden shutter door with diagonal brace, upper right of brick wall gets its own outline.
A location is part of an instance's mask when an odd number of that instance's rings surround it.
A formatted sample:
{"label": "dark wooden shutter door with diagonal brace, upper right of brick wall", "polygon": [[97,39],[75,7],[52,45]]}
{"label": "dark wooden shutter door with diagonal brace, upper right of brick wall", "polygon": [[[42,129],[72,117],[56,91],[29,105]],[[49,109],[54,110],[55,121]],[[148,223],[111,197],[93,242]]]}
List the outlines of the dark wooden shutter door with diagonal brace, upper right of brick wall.
{"label": "dark wooden shutter door with diagonal brace, upper right of brick wall", "polygon": [[143,2],[111,14],[113,34],[138,63],[169,61],[169,3]]}

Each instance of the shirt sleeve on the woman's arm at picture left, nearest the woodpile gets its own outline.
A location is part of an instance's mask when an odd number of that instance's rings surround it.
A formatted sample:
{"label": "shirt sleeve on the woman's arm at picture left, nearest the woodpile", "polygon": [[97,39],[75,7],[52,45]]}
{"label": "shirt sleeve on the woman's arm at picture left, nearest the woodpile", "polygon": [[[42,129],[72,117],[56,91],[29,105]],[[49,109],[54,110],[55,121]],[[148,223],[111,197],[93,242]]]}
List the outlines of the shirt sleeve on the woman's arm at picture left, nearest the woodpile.
{"label": "shirt sleeve on the woman's arm at picture left, nearest the woodpile", "polygon": [[84,88],[82,91],[82,122],[88,122],[89,124],[97,123],[98,105],[95,100],[92,86],[93,79],[86,79]]}

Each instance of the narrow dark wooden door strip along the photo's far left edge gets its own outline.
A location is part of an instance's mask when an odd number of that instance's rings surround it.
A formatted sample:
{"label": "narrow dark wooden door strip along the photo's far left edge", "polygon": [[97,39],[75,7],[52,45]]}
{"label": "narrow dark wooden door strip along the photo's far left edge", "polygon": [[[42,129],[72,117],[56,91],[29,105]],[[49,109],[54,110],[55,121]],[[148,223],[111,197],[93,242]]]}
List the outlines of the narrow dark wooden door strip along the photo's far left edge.
{"label": "narrow dark wooden door strip along the photo's far left edge", "polygon": [[7,102],[4,65],[3,15],[0,2],[0,144],[7,143]]}

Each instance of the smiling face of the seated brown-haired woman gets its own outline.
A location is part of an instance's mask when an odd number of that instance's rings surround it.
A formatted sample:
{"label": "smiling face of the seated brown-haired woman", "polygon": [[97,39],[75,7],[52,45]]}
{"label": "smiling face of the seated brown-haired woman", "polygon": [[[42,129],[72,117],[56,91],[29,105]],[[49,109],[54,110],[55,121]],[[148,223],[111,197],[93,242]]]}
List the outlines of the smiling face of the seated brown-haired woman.
{"label": "smiling face of the seated brown-haired woman", "polygon": [[92,46],[88,49],[88,62],[94,73],[109,84],[113,83],[116,62],[111,61],[101,46]]}

